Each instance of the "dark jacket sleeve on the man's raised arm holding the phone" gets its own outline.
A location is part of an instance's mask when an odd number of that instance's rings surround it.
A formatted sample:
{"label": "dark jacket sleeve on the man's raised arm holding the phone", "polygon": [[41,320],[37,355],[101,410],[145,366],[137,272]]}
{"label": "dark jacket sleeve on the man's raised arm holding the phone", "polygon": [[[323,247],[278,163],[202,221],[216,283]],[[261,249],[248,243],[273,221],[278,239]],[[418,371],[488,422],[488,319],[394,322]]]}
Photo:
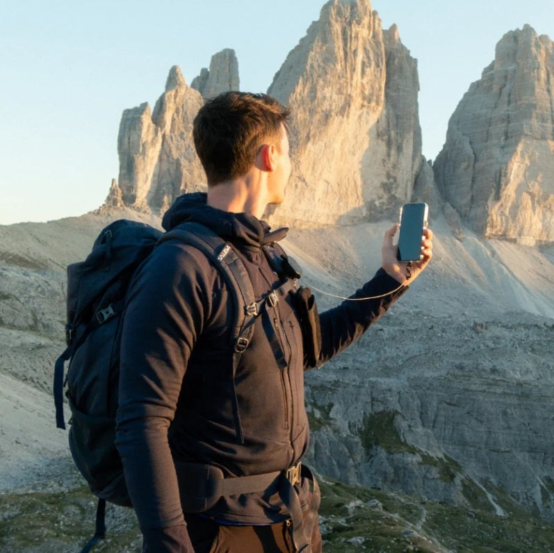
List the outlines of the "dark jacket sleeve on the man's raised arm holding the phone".
{"label": "dark jacket sleeve on the man's raised arm holding the phone", "polygon": [[371,324],[379,320],[386,313],[386,310],[408,289],[407,286],[399,287],[400,283],[381,268],[375,273],[373,279],[366,282],[350,298],[357,299],[381,295],[383,297],[360,299],[355,302],[345,299],[339,306],[321,313],[319,316],[321,352],[319,363],[316,366],[321,366],[325,361],[329,361],[329,359],[342,352],[352,342],[355,342]]}

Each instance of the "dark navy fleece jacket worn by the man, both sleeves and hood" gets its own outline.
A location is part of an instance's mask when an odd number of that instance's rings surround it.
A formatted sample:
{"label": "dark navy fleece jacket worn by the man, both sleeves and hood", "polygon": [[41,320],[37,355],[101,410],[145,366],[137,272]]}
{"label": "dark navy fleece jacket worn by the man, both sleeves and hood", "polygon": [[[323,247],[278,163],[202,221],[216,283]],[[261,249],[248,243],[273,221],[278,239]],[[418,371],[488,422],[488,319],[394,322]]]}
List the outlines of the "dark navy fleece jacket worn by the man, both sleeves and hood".
{"label": "dark navy fleece jacket worn by the man, both sleeves and hood", "polygon": [[[206,195],[181,196],[163,218],[170,230],[185,221],[209,226],[243,261],[256,298],[277,276],[261,247],[270,232],[247,213],[206,205]],[[383,270],[352,297],[386,294],[399,284]],[[405,291],[364,302],[343,302],[320,314],[319,362],[332,358],[384,314]],[[233,382],[230,326],[233,306],[222,275],[200,251],[179,241],[154,250],[133,279],[122,330],[117,447],[148,552],[192,552],[179,496],[181,461],[207,463],[227,477],[284,470],[302,459],[309,439],[304,409],[302,333],[291,297],[270,313],[286,356],[279,368],[261,317]],[[244,440],[231,404],[236,386]],[[307,502],[307,483],[299,488]],[[277,495],[222,497],[206,515],[241,524],[288,518]]]}

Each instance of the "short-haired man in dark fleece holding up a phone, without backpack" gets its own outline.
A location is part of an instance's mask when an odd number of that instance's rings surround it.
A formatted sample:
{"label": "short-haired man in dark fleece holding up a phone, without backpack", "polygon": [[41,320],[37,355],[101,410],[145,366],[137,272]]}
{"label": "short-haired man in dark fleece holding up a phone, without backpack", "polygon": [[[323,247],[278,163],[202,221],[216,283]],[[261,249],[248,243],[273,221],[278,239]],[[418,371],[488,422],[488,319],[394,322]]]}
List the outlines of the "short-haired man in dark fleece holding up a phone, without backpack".
{"label": "short-haired man in dark fleece holding up a phone, without backpack", "polygon": [[[270,301],[286,282],[274,263],[284,259],[275,243],[286,229],[271,232],[260,220],[268,204],[283,201],[291,174],[287,117],[265,94],[228,92],[208,101],[194,122],[207,196],[181,196],[163,217],[167,230],[184,222],[208,226],[243,263],[261,316],[238,366],[229,347],[236,307],[222,274],[199,249],[163,243],[129,292],[117,447],[146,552],[321,550],[317,484],[298,464],[308,445],[303,370],[359,338],[407,288],[393,226],[382,268],[352,296],[384,297],[345,301],[316,317],[321,340],[309,361],[295,286]],[[425,231],[410,282],[430,261],[431,240]],[[237,484],[234,493],[216,493],[199,508],[196,495],[204,488],[213,495],[215,472]],[[258,483],[264,474],[270,484],[252,491],[249,477]],[[191,493],[195,486],[201,491]]]}

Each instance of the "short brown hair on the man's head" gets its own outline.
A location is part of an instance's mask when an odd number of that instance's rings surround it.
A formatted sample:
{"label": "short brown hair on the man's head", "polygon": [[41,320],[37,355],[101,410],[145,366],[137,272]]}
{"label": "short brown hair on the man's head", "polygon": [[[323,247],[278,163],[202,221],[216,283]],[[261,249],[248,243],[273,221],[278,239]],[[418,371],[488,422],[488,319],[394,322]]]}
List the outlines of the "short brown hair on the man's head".
{"label": "short brown hair on the man's head", "polygon": [[287,129],[290,110],[267,94],[224,92],[206,101],[193,124],[208,185],[246,174],[263,142]]}

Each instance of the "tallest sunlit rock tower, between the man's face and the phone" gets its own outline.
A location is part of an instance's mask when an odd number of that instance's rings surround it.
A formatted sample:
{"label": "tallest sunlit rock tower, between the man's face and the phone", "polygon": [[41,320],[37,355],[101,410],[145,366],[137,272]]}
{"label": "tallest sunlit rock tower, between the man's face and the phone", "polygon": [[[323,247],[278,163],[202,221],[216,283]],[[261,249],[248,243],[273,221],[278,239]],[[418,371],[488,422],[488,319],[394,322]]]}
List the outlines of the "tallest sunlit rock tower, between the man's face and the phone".
{"label": "tallest sunlit rock tower, between the man's face and the phone", "polygon": [[421,167],[417,93],[396,26],[383,31],[368,1],[325,4],[268,89],[293,110],[293,176],[273,220],[348,224],[409,201]]}

